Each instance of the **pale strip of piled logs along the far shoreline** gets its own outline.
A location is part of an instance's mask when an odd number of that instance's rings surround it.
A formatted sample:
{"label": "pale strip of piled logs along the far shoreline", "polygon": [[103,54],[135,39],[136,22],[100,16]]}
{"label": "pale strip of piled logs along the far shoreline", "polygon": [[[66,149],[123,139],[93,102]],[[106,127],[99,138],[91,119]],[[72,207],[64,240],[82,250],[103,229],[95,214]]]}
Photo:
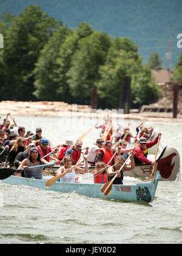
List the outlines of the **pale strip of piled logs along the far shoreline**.
{"label": "pale strip of piled logs along the far shoreline", "polygon": [[[114,110],[114,111],[113,111]],[[40,116],[40,117],[103,117],[107,113],[102,109],[92,109],[89,105],[69,105],[65,102],[0,102],[0,115],[8,112],[12,116]],[[133,112],[130,114],[117,114],[112,109],[112,118],[124,118],[130,120],[182,123],[182,117],[172,118],[172,112]]]}

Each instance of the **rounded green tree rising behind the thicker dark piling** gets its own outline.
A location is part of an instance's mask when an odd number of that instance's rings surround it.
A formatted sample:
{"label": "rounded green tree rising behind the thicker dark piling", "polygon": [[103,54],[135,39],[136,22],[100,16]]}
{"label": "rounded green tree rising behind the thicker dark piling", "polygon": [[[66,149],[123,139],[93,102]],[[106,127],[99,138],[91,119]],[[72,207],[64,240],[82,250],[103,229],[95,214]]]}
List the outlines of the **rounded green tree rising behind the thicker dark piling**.
{"label": "rounded green tree rising behind the thicker dark piling", "polygon": [[[125,44],[127,42],[127,44]],[[132,75],[141,68],[137,47],[128,38],[116,38],[107,53],[103,66],[99,67],[98,95],[102,108],[118,108],[124,75]]]}

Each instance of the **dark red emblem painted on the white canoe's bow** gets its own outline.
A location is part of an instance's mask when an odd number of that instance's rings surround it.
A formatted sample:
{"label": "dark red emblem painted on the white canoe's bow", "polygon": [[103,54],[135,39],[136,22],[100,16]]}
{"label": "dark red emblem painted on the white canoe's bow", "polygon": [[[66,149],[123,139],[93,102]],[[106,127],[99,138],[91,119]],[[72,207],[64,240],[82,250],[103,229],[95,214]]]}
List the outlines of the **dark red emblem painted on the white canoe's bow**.
{"label": "dark red emblem painted on the white canoe's bow", "polygon": [[175,162],[172,165],[172,157],[177,156],[176,153],[169,154],[169,156],[164,157],[163,159],[160,159],[157,161],[157,170],[160,171],[161,177],[164,179],[169,178],[169,176],[172,173],[172,170],[174,168]]}

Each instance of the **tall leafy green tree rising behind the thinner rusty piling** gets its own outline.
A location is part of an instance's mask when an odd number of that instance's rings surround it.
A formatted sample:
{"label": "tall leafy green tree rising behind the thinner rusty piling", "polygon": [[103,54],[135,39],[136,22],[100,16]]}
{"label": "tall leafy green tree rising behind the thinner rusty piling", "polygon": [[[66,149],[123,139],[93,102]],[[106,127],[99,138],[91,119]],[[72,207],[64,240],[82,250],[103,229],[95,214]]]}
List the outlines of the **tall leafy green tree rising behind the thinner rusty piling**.
{"label": "tall leafy green tree rising behind the thinner rusty piling", "polygon": [[79,40],[67,72],[70,92],[76,102],[90,104],[93,86],[100,79],[99,66],[105,63],[110,44],[110,36],[97,31]]}

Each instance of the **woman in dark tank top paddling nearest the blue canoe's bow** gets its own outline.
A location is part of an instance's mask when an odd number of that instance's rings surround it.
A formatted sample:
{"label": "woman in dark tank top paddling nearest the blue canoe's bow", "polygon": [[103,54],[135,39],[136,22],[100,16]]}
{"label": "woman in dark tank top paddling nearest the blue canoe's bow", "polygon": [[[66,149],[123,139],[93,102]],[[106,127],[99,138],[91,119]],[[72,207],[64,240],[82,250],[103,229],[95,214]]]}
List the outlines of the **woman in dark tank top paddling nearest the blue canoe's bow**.
{"label": "woman in dark tank top paddling nearest the blue canoe's bow", "polygon": [[113,182],[113,184],[123,184],[123,171],[130,171],[133,168],[135,168],[135,162],[133,159],[134,153],[131,153],[131,165],[127,166],[124,165],[123,169],[121,171],[120,168],[121,166],[124,164],[124,162],[126,161],[124,156],[118,156],[118,158],[116,159],[116,162],[114,165],[112,165],[111,167],[109,167],[109,169],[107,170],[107,179],[108,181],[110,181],[116,174],[118,174],[118,176],[115,178],[115,181]]}

